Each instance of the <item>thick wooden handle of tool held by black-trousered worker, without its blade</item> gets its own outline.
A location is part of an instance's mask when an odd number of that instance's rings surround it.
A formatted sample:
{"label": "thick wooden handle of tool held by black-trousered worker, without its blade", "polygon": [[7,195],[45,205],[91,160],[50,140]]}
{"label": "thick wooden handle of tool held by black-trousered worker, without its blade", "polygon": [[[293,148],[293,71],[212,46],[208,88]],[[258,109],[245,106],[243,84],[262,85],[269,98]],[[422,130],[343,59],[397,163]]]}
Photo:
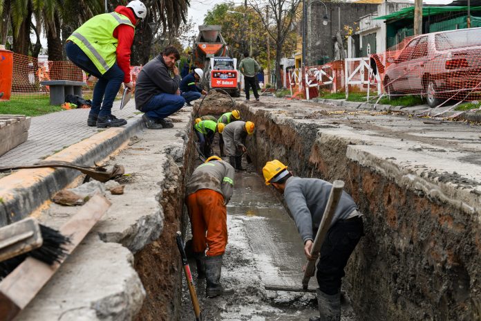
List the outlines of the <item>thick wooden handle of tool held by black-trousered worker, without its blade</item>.
{"label": "thick wooden handle of tool held by black-trousered worker, without its blade", "polygon": [[[343,181],[334,181],[334,183],[332,183],[328,203],[322,216],[321,226],[319,226],[319,230],[317,230],[316,239],[314,239],[314,244],[311,248],[311,255],[319,255],[321,246],[324,242],[324,239],[326,239],[326,235],[328,234],[332,217],[334,217],[334,212],[336,212],[337,204],[339,204],[339,199],[341,199],[343,188]],[[304,277],[302,279],[302,287],[304,290],[307,290],[309,286],[309,280],[312,276],[314,276],[316,262],[317,260],[308,261],[305,266]]]}

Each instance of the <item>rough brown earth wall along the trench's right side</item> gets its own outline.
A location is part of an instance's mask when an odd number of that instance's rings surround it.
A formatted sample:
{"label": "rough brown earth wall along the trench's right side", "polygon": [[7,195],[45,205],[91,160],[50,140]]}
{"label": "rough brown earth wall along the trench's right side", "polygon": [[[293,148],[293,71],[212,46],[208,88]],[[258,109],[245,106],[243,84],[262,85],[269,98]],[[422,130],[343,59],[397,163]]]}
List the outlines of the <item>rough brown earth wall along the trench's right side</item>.
{"label": "rough brown earth wall along the trench's right side", "polygon": [[406,188],[389,175],[397,169],[389,160],[377,168],[362,165],[356,148],[366,143],[332,134],[333,126],[262,107],[239,109],[256,124],[248,144],[258,169],[278,158],[297,176],[342,179],[366,215],[366,236],[343,281],[359,320],[480,320],[476,211],[416,184]]}

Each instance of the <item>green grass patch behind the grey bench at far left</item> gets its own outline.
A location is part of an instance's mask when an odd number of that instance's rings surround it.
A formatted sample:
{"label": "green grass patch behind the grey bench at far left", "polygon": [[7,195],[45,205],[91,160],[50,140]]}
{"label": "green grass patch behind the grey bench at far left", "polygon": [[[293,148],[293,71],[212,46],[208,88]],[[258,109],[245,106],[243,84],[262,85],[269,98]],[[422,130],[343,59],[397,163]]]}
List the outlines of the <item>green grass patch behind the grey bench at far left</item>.
{"label": "green grass patch behind the grey bench at far left", "polygon": [[0,114],[16,114],[26,116],[41,116],[46,113],[61,111],[60,106],[51,106],[50,98],[46,97],[12,97],[0,101]]}

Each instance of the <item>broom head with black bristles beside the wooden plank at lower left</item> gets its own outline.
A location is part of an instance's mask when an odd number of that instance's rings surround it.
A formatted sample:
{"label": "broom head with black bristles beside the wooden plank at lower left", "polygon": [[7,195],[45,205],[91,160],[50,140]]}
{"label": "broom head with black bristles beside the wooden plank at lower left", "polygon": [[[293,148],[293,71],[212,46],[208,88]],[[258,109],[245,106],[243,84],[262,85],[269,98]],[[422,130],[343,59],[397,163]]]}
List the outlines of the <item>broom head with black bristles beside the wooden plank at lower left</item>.
{"label": "broom head with black bristles beside the wooden plank at lower left", "polygon": [[23,219],[0,228],[0,279],[9,275],[27,257],[49,266],[62,262],[67,254],[64,246],[69,243],[68,237],[35,219]]}

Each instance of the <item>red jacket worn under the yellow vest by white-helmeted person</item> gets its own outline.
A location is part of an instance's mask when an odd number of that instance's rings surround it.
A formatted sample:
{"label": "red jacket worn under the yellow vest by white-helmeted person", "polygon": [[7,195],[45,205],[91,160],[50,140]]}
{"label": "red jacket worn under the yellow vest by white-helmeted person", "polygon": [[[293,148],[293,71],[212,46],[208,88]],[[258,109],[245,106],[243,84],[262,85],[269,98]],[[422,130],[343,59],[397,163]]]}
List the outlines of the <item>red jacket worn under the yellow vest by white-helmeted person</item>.
{"label": "red jacket worn under the yellow vest by white-helmeted person", "polygon": [[[132,10],[126,8],[124,6],[117,6],[115,8],[115,12],[120,13],[130,19],[132,24],[135,26],[137,19],[133,14]],[[135,29],[131,26],[126,24],[121,24],[115,30],[113,30],[113,37],[118,39],[119,43],[117,44],[117,65],[122,69],[124,72],[124,82],[130,82],[130,55],[131,55],[131,47],[133,44],[133,35],[135,33]]]}

